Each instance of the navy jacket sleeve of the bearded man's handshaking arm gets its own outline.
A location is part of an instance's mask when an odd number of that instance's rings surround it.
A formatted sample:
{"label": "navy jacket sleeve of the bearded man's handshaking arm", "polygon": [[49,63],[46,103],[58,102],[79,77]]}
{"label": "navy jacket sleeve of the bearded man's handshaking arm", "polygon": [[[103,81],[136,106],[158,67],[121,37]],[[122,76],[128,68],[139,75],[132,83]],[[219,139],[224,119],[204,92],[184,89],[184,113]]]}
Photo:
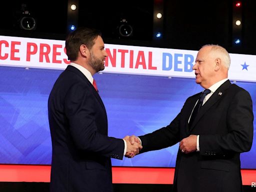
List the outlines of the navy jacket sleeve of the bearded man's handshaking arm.
{"label": "navy jacket sleeve of the bearded man's handshaking arm", "polygon": [[104,110],[97,108],[96,104],[95,95],[84,83],[75,84],[68,90],[64,107],[71,139],[78,149],[122,159],[123,139],[109,137],[99,132],[96,120],[105,120],[105,123],[98,123],[105,126],[105,129],[107,129],[107,120]]}

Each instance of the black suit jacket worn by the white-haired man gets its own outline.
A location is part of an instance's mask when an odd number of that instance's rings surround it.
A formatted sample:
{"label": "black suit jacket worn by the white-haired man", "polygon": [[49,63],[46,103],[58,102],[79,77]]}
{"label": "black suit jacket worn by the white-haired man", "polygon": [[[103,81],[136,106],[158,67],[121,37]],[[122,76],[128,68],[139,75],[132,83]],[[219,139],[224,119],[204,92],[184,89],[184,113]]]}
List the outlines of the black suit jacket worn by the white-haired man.
{"label": "black suit jacket worn by the white-haired man", "polygon": [[174,191],[242,191],[240,153],[250,150],[252,144],[251,97],[227,80],[200,108],[189,128],[187,121],[199,94],[186,99],[169,125],[139,136],[143,146],[140,153],[199,134],[199,152],[185,154],[178,150]]}

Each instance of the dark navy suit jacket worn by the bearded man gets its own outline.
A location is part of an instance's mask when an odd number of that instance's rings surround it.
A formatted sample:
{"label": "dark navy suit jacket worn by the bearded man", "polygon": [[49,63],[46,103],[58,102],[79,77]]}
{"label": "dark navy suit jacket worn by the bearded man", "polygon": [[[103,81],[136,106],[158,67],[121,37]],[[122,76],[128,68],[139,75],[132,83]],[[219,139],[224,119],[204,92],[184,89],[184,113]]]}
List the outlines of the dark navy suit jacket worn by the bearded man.
{"label": "dark navy suit jacket worn by the bearded man", "polygon": [[50,191],[112,191],[110,157],[122,159],[124,142],[107,136],[104,104],[77,68],[67,66],[54,83],[48,118]]}

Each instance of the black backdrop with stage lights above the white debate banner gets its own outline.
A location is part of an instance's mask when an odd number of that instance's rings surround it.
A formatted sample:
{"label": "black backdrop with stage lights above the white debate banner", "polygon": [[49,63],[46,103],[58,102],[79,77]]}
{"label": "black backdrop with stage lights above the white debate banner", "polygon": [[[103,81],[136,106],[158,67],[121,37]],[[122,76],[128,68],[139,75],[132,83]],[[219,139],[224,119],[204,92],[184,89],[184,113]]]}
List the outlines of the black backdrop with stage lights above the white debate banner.
{"label": "black backdrop with stage lights above the white debate banner", "polygon": [[[154,0],[97,1],[79,0],[78,26],[98,28],[105,43],[198,50],[203,44],[224,46],[231,53],[256,54],[255,0],[240,0],[241,43],[233,43],[234,2],[236,0],[155,0],[163,2],[163,36],[153,36]],[[35,30],[23,30],[17,23],[20,5],[26,3],[36,18]],[[67,3],[43,0],[9,0],[1,2],[0,35],[63,39],[67,31]],[[117,26],[125,17],[133,35],[120,37]]]}

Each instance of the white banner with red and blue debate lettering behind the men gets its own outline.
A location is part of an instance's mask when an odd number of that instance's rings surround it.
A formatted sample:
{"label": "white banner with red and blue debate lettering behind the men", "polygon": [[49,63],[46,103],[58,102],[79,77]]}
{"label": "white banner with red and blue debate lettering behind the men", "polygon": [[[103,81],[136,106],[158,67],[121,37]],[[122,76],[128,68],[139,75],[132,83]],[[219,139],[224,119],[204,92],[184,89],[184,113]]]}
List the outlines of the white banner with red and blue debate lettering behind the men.
{"label": "white banner with red and blue debate lettering behind the men", "polygon": [[[64,40],[0,36],[0,65],[65,69]],[[194,78],[195,50],[105,44],[103,72]],[[229,79],[256,81],[256,55],[230,53]]]}

